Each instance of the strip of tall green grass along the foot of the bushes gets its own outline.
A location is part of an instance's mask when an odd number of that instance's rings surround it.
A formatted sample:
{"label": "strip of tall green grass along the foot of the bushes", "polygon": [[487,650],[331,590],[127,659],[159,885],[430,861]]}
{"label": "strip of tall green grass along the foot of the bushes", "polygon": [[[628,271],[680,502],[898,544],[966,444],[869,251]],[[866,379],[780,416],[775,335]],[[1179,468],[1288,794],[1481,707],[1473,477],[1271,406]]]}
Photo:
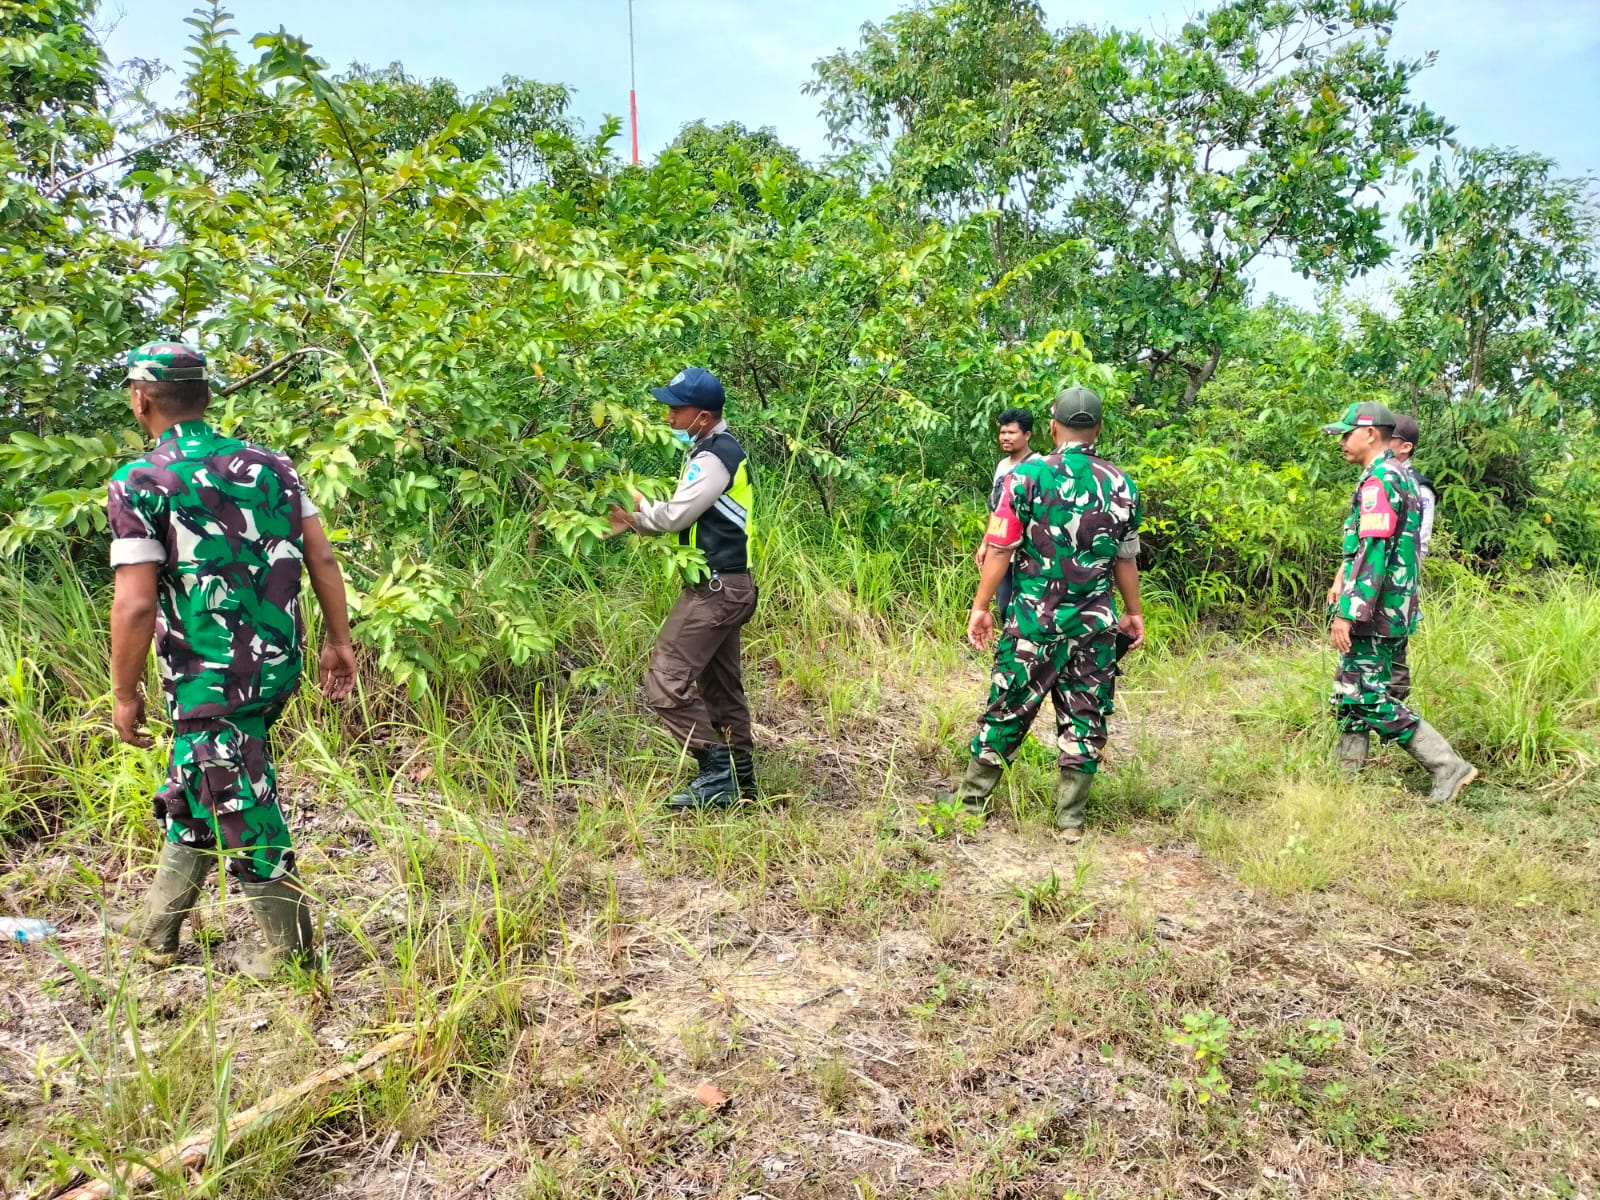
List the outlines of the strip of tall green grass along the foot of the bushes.
{"label": "strip of tall green grass along the foot of the bushes", "polygon": [[[818,702],[830,731],[882,702],[885,672],[907,664],[910,674],[915,664],[949,672],[971,661],[960,635],[976,571],[963,547],[915,536],[872,542],[840,522],[770,526],[757,550],[762,603],[746,658],[784,694]],[[578,563],[530,557],[526,531],[509,522],[466,565],[437,571],[462,597],[462,610],[426,630],[432,642],[424,653],[435,666],[429,693],[406,699],[368,662],[357,725],[408,728],[445,715],[509,725],[528,746],[525,770],[546,782],[573,776],[576,766],[563,757],[570,739],[579,750],[626,746],[640,754],[627,717],[637,712],[637,680],[680,586],[651,546],[618,539]],[[525,597],[523,616],[547,632],[549,653],[512,659],[494,622],[472,608],[474,595],[496,589]],[[0,568],[0,837],[56,827],[67,810],[104,821],[107,792],[136,795],[158,770],[110,742],[107,608],[109,587],[91,586],[66,558],[35,563],[27,576]],[[1125,691],[1178,659],[1182,677],[1160,678],[1174,701],[1214,694],[1248,670],[1258,685],[1226,699],[1238,720],[1288,738],[1326,733],[1333,656],[1315,624],[1266,613],[1243,629],[1218,630],[1203,597],[1178,594],[1158,578],[1146,581],[1146,611],[1150,643]],[[1427,718],[1507,779],[1576,776],[1600,754],[1600,589],[1579,574],[1499,581],[1430,563],[1413,661]],[[150,690],[158,694],[154,675]],[[152,704],[155,720],[158,709]],[[315,742],[330,722],[349,718],[307,688],[285,728]],[[954,741],[952,723],[960,722],[934,712],[930,728]],[[376,734],[371,744],[390,752]],[[656,744],[664,750],[664,741]]]}

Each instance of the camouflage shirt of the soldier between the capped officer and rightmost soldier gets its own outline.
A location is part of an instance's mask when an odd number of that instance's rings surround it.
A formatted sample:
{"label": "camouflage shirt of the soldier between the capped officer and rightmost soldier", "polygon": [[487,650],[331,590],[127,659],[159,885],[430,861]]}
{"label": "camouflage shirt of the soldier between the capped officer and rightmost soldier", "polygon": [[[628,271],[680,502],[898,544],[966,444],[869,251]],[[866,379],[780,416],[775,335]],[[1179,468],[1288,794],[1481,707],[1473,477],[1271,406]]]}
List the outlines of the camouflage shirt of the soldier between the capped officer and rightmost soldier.
{"label": "camouflage shirt of the soldier between the capped officer and rightmost soldier", "polygon": [[1069,445],[1018,466],[987,542],[1014,549],[1018,637],[1050,642],[1117,624],[1112,562],[1139,554],[1139,490],[1093,446]]}

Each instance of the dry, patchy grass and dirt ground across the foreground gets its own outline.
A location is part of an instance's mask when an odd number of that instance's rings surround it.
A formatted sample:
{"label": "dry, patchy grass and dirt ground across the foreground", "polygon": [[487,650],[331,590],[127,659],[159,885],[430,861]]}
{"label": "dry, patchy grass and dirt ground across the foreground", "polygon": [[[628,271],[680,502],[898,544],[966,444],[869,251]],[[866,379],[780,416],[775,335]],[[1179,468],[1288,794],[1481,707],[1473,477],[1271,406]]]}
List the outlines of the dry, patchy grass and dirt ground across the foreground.
{"label": "dry, patchy grass and dirt ground across the foreground", "polygon": [[941,837],[918,714],[968,674],[845,736],[766,709],[797,795],[749,813],[669,822],[621,784],[466,813],[402,776],[374,816],[294,778],[323,986],[229,981],[187,936],[178,968],[128,966],[94,877],[142,874],[8,851],[8,901],[64,933],[0,947],[0,1179],[46,1195],[53,1146],[104,1162],[206,1123],[224,1062],[242,1107],[418,1026],[376,1082],[166,1192],[1600,1195],[1589,912],[1272,894],[1171,819],[1067,846],[1035,805]]}

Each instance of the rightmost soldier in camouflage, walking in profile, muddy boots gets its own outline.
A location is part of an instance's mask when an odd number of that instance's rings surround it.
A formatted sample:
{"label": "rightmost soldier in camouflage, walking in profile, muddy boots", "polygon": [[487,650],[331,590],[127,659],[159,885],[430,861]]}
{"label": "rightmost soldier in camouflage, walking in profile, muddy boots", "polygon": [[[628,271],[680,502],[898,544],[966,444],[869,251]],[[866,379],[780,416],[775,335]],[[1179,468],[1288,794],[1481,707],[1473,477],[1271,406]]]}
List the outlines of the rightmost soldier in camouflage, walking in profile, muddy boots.
{"label": "rightmost soldier in camouflage, walking in profile, muddy boots", "polygon": [[1427,722],[1390,694],[1395,651],[1416,627],[1422,499],[1416,478],[1394,456],[1395,414],[1378,402],[1350,405],[1323,426],[1339,434],[1346,459],[1363,472],[1344,522],[1344,566],[1330,592],[1333,710],[1339,722],[1339,765],[1366,765],[1368,734],[1395,742],[1434,778],[1429,800],[1446,803],[1477,778],[1466,758]]}

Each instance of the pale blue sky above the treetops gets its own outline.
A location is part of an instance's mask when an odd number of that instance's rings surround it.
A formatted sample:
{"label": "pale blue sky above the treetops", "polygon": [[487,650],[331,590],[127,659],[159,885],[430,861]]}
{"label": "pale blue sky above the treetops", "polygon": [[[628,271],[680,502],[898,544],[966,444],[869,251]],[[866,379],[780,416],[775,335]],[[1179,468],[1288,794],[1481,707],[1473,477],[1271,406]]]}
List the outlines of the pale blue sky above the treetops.
{"label": "pale blue sky above the treetops", "polygon": [[[866,21],[894,0],[635,0],[640,147],[650,157],[686,122],[771,125],[806,157],[827,142],[811,64],[854,46]],[[112,59],[181,64],[194,0],[106,0]],[[334,67],[403,62],[474,91],[502,75],[576,88],[589,128],[627,114],[627,0],[232,0],[248,38],[285,26]],[[1173,0],[1045,0],[1053,26],[1120,24],[1163,32],[1200,5]],[[1600,0],[1411,0],[1395,53],[1438,61],[1416,94],[1458,138],[1555,158],[1566,174],[1600,173]],[[242,46],[250,54],[248,45]],[[626,154],[627,141],[618,144]],[[1286,277],[1288,278],[1288,277]],[[1264,285],[1301,293],[1274,272]],[[1304,298],[1304,294],[1296,296]]]}

